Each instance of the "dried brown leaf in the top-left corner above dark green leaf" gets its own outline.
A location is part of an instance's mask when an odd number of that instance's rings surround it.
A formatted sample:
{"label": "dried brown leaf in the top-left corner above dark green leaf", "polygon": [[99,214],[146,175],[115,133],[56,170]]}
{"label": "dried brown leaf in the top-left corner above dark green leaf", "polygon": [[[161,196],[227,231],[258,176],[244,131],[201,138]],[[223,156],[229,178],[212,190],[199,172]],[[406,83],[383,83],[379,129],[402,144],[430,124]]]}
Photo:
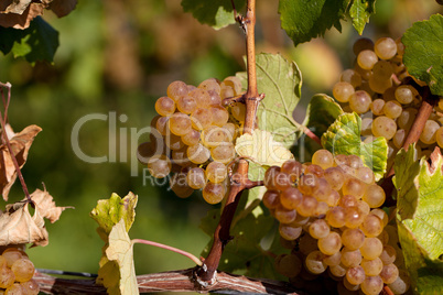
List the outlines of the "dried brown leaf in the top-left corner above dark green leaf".
{"label": "dried brown leaf in the top-left corner above dark green leaf", "polygon": [[43,14],[45,6],[42,3],[32,2],[23,11],[22,14],[19,13],[3,13],[0,12],[0,25],[4,28],[13,28],[24,30],[30,26],[31,21]]}

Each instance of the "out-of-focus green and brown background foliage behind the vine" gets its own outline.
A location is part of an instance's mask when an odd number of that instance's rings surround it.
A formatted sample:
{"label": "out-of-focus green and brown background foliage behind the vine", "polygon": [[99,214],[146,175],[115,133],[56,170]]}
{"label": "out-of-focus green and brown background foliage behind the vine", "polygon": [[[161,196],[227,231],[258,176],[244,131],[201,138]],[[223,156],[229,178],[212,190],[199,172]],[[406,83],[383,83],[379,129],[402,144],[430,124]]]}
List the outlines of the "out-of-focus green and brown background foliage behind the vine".
{"label": "out-of-focus green and brown background foliage behind the vine", "polygon": [[[312,95],[329,92],[341,72],[352,66],[352,44],[358,35],[346,21],[342,34],[333,30],[325,39],[294,48],[280,29],[277,9],[275,0],[258,1],[257,52],[280,52],[299,64],[304,85],[295,119],[302,121]],[[413,21],[439,10],[434,0],[379,0],[364,36],[397,39]],[[209,240],[198,229],[199,219],[212,206],[199,194],[180,199],[165,186],[150,185],[142,165],[130,161],[136,141],[143,142],[148,135],[131,142],[131,132],[149,125],[154,101],[165,95],[171,81],[198,84],[244,70],[241,30],[231,25],[214,31],[202,25],[183,12],[179,0],[79,0],[67,17],[57,19],[46,12],[44,19],[60,32],[53,65],[32,67],[11,54],[0,56],[0,81],[13,85],[11,125],[15,132],[29,124],[43,128],[23,167],[28,187],[30,192],[42,189],[44,183],[57,205],[75,207],[47,225],[50,244],[30,249],[31,259],[37,267],[96,273],[102,242],[89,211],[98,199],[112,193],[123,197],[128,192],[139,196],[131,238],[198,255]],[[109,134],[110,120],[88,121],[80,129],[79,146],[90,156],[115,152],[112,163],[86,163],[73,152],[73,127],[91,113],[117,116],[116,133]],[[127,120],[119,120],[121,114]],[[112,136],[117,146],[109,149]],[[131,176],[131,165],[138,176]],[[10,201],[22,198],[17,183]],[[148,245],[136,245],[134,256],[138,274],[193,266],[179,254]]]}

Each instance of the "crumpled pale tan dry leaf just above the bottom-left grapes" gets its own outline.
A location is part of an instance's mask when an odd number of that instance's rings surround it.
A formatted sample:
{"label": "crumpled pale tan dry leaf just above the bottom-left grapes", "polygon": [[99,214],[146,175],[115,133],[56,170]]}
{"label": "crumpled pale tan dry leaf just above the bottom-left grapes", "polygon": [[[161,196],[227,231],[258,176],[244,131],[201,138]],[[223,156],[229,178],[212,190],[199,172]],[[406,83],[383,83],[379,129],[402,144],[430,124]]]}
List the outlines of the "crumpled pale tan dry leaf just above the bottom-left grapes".
{"label": "crumpled pale tan dry leaf just above the bottom-left grapes", "polygon": [[[48,243],[44,218],[54,222],[68,207],[56,207],[52,196],[40,189],[32,193],[31,199],[34,205],[29,204],[26,199],[7,205],[4,212],[0,215],[0,245]],[[30,206],[34,207],[33,214],[30,212]]]}

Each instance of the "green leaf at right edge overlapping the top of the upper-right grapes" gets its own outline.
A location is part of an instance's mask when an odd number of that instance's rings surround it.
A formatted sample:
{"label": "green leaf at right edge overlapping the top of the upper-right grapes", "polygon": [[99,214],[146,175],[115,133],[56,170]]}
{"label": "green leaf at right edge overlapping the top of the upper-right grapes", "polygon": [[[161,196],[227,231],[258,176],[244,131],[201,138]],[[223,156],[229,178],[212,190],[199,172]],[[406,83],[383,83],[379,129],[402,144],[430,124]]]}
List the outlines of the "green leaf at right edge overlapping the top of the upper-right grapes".
{"label": "green leaf at right edge overlapping the top of the upper-right grapes", "polygon": [[406,46],[403,63],[408,73],[425,81],[433,95],[443,96],[443,15],[415,22],[401,42]]}

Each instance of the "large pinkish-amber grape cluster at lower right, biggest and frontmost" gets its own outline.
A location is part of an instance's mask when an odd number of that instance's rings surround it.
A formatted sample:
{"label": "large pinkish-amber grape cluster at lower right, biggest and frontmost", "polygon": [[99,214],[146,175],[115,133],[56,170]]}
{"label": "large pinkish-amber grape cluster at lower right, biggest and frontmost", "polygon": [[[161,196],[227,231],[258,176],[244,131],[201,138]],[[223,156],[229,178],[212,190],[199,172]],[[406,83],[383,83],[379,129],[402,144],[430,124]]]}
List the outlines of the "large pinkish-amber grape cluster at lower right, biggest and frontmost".
{"label": "large pinkish-amber grape cluster at lower right, biggest and frontmost", "polygon": [[359,156],[318,150],[311,164],[290,160],[270,167],[264,185],[263,204],[293,250],[277,258],[278,272],[294,278],[327,271],[347,292],[366,295],[379,294],[383,284],[395,294],[408,289],[396,228],[378,208],[385,192]]}

